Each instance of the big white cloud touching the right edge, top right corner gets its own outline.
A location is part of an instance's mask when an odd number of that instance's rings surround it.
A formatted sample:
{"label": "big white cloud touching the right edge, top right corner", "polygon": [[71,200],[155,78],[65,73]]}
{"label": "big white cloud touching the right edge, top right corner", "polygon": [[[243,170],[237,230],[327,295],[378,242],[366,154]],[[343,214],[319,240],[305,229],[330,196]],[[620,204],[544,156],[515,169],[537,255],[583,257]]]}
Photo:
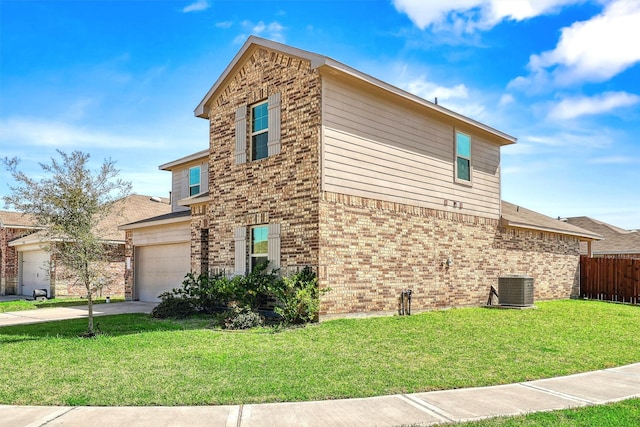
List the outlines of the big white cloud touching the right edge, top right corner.
{"label": "big white cloud touching the right edge, top right corner", "polygon": [[638,40],[640,2],[614,1],[592,19],[563,28],[555,49],[532,55],[530,75],[509,85],[539,90],[549,84],[606,81],[640,62]]}

